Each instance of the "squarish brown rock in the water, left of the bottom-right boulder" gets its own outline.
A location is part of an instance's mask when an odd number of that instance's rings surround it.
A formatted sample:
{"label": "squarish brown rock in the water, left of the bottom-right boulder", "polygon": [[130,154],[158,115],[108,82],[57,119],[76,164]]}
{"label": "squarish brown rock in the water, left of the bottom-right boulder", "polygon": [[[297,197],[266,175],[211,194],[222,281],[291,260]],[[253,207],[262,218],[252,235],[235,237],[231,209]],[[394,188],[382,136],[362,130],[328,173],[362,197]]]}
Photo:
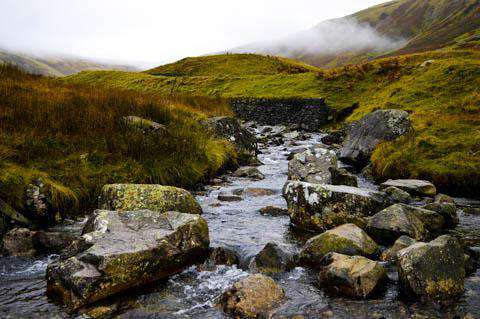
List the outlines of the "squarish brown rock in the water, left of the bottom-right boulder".
{"label": "squarish brown rock in the water, left of the bottom-right boulder", "polygon": [[322,263],[320,285],[336,294],[368,298],[382,290],[387,281],[383,266],[362,256],[330,253]]}

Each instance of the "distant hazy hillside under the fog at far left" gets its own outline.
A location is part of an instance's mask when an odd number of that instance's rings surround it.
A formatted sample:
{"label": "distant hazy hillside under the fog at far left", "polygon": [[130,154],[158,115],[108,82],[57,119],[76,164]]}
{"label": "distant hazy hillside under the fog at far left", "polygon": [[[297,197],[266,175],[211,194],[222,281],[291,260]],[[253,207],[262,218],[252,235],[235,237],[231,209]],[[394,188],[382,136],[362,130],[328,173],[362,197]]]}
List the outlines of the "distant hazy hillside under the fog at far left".
{"label": "distant hazy hillside under the fog at far left", "polygon": [[72,57],[36,57],[0,50],[1,62],[16,65],[28,73],[48,76],[66,76],[87,70],[135,71],[134,67],[126,65],[105,64]]}

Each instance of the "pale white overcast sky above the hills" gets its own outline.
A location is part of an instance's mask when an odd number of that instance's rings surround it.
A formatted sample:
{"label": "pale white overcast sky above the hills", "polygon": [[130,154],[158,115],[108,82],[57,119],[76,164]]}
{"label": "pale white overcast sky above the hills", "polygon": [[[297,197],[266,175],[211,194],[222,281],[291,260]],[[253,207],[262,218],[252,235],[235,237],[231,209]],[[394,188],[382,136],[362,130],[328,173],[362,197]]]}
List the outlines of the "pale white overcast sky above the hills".
{"label": "pale white overcast sky above the hills", "polygon": [[0,48],[159,64],[283,37],[385,0],[0,0]]}

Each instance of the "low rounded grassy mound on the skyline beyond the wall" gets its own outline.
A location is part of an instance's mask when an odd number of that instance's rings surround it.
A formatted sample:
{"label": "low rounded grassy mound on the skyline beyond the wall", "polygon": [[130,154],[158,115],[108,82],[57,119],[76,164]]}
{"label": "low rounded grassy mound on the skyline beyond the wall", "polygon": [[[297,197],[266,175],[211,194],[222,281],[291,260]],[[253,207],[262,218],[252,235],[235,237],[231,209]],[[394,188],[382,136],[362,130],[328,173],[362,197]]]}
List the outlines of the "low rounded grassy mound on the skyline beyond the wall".
{"label": "low rounded grassy mound on the skyline beyond the wall", "polygon": [[315,67],[285,58],[257,54],[220,54],[185,58],[145,72],[164,76],[246,76],[298,74],[315,70]]}

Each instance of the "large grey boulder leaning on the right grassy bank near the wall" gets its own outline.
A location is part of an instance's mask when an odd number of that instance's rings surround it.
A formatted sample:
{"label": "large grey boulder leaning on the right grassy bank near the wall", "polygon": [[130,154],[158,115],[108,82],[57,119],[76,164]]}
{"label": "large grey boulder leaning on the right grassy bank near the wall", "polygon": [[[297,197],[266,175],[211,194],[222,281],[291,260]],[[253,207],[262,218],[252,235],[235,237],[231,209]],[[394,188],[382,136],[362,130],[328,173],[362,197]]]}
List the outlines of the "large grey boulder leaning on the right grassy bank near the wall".
{"label": "large grey boulder leaning on the right grassy bank near the wall", "polygon": [[340,151],[340,159],[363,167],[380,142],[395,140],[411,129],[405,111],[378,110],[367,114],[351,126]]}

